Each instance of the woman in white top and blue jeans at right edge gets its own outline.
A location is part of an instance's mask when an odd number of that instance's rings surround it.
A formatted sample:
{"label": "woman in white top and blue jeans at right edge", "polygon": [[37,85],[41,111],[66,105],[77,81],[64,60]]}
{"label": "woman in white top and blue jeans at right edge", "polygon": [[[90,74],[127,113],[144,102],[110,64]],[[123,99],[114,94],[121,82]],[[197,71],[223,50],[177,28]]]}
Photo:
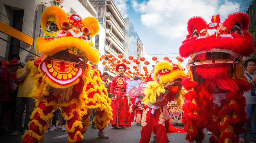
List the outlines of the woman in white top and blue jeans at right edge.
{"label": "woman in white top and blue jeans at right edge", "polygon": [[[251,143],[256,142],[256,74],[253,73],[256,70],[256,59],[255,58],[248,58],[244,61],[244,68],[246,70],[245,77],[246,79],[252,84],[252,89],[250,91],[247,91],[244,93],[244,97],[246,99],[246,107],[245,111],[247,112],[247,119],[248,121],[245,123],[245,129],[248,133],[250,128],[250,119],[251,116],[254,115],[253,121],[252,121],[252,139]],[[247,133],[243,133],[239,137],[240,143],[245,143],[245,138],[247,137]]]}

